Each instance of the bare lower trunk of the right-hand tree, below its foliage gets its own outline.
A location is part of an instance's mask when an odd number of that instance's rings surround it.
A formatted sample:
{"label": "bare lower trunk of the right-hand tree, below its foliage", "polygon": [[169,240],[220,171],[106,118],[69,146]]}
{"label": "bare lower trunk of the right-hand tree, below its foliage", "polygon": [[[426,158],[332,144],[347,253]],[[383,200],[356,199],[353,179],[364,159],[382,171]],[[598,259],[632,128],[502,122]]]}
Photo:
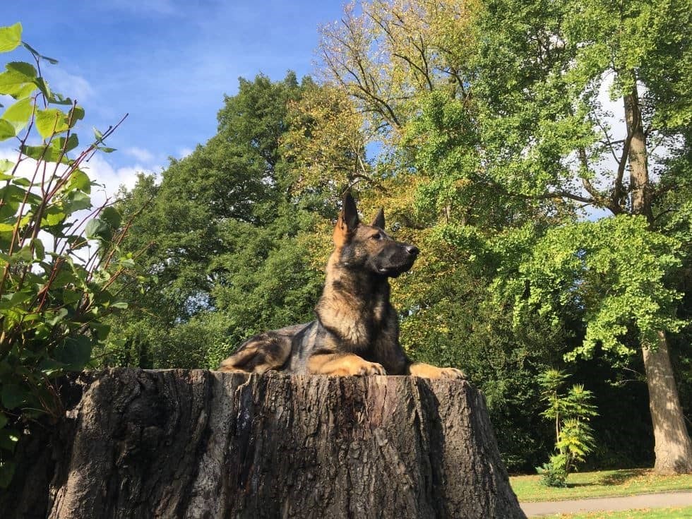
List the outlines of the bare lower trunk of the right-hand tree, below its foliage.
{"label": "bare lower trunk of the right-hand tree, below its foliage", "polygon": [[643,349],[649,409],[654,426],[654,470],[661,474],[684,474],[692,472],[692,442],[673,378],[668,341],[664,332],[658,335],[656,351]]}

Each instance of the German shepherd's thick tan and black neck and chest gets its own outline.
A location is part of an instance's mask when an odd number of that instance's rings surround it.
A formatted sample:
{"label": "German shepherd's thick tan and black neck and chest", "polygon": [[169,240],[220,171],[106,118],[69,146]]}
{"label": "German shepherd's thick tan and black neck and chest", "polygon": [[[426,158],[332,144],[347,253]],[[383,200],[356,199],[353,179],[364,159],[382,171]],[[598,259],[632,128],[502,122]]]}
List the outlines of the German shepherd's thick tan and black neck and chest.
{"label": "German shepherd's thick tan and black neck and chest", "polygon": [[[393,311],[389,303],[389,280],[340,263],[340,253],[329,258],[322,297],[316,306],[317,318],[328,331],[353,351],[374,343],[381,323]],[[359,294],[362,297],[353,297]]]}

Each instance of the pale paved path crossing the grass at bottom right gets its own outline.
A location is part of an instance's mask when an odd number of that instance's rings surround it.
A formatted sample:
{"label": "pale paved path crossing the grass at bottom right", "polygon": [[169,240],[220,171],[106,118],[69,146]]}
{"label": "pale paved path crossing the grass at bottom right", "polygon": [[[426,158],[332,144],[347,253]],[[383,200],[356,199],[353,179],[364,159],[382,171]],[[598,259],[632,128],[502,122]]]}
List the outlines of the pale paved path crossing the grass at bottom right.
{"label": "pale paved path crossing the grass at bottom right", "polygon": [[631,510],[633,508],[667,508],[669,506],[692,506],[692,492],[664,492],[627,497],[544,501],[542,503],[520,503],[520,505],[528,517],[556,515],[558,513]]}

